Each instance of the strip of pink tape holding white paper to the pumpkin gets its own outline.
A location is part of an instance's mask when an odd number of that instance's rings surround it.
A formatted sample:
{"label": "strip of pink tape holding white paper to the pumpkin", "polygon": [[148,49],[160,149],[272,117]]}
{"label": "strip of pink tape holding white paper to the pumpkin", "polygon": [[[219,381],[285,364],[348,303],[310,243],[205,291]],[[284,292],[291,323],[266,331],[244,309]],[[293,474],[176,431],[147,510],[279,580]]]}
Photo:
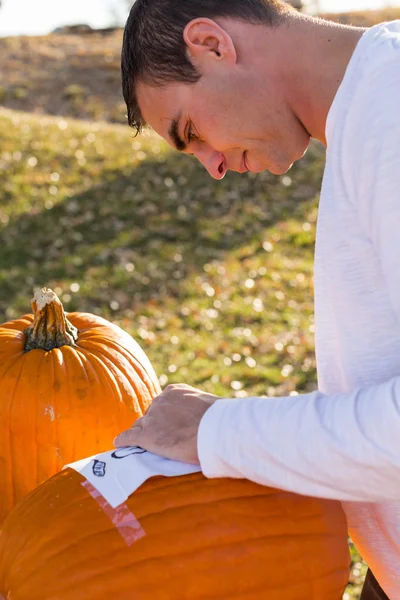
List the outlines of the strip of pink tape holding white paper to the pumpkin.
{"label": "strip of pink tape holding white paper to the pumpkin", "polygon": [[132,544],[146,535],[145,530],[135,515],[129,510],[127,504],[120,504],[117,508],[113,508],[90,481],[82,481],[81,485],[103,509],[128,546],[132,546]]}

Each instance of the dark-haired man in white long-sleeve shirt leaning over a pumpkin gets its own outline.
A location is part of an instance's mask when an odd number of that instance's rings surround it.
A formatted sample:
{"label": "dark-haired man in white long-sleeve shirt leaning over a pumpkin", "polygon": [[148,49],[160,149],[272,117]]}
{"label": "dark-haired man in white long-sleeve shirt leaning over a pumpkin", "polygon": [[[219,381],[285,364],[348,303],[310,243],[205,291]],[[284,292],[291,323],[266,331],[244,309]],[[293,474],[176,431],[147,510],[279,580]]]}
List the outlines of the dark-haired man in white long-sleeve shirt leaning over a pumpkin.
{"label": "dark-haired man in white long-sleeve shirt leaning over a pumpkin", "polygon": [[[319,390],[220,399],[168,386],[116,439],[341,500],[367,598],[400,598],[400,22],[369,30],[279,0],[137,0],[122,51],[129,122],[210,175],[286,172],[327,145],[315,253]],[[381,586],[381,587],[380,587]],[[384,590],[384,591],[383,591]]]}

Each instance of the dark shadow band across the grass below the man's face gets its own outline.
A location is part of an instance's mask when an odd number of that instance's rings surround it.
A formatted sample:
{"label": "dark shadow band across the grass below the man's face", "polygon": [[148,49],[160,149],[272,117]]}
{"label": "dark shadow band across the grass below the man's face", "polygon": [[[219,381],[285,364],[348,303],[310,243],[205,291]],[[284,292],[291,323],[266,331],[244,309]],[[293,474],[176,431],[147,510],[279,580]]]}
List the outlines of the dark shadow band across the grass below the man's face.
{"label": "dark shadow band across the grass below the man's face", "polygon": [[303,218],[322,163],[312,146],[283,182],[268,173],[217,182],[179,154],[110,172],[101,185],[0,229],[0,314],[10,305],[29,311],[32,288],[44,285],[68,291],[78,283],[79,302],[72,295],[66,308],[103,314],[112,302],[123,311],[179,296],[205,263],[242,247],[262,251],[266,228]]}

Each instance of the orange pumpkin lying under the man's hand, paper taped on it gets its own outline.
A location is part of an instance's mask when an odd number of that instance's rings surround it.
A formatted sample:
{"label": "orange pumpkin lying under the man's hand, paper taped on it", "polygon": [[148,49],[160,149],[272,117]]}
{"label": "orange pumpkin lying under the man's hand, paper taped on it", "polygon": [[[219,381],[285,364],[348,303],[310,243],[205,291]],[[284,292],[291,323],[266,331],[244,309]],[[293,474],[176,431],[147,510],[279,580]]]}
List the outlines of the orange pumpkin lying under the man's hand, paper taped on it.
{"label": "orange pumpkin lying under the man's hand, paper taped on it", "polygon": [[0,532],[8,600],[341,600],[339,503],[195,473],[153,477],[112,509],[66,469]]}

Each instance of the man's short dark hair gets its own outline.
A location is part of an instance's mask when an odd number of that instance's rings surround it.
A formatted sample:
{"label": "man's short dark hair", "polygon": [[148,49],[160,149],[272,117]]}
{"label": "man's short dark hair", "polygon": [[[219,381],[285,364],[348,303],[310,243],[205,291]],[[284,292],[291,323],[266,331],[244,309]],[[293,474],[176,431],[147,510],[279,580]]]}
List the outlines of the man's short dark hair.
{"label": "man's short dark hair", "polygon": [[200,79],[183,39],[190,21],[231,17],[276,26],[288,10],[281,0],[136,0],[126,22],[121,56],[129,125],[137,133],[145,125],[136,95],[138,82],[163,85]]}

